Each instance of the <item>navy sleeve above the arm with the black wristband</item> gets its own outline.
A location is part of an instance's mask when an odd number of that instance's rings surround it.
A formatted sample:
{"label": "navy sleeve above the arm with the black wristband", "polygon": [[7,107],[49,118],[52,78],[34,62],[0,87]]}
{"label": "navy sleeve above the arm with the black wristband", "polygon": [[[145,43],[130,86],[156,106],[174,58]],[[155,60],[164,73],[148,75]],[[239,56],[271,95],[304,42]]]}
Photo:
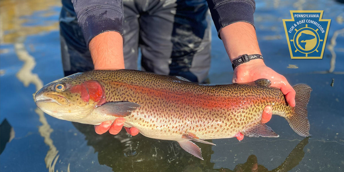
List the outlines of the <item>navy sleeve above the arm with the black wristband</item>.
{"label": "navy sleeve above the arm with the black wristband", "polygon": [[210,13],[220,37],[220,30],[235,22],[247,22],[254,26],[254,0],[207,0]]}

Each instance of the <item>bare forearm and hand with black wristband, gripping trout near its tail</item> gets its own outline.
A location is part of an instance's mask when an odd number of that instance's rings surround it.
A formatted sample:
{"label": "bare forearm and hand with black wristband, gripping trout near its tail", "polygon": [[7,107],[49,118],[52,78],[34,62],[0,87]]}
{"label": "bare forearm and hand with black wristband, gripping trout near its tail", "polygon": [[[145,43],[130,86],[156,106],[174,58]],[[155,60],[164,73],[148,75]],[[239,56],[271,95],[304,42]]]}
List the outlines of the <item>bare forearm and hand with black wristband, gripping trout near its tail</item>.
{"label": "bare forearm and hand with black wristband, gripping trout near its tail", "polygon": [[[254,26],[247,22],[229,24],[220,30],[221,39],[231,61],[243,54],[261,54]],[[244,46],[243,46],[244,45]],[[290,106],[295,106],[295,91],[287,79],[264,64],[262,59],[251,60],[234,69],[233,83],[253,82],[269,79],[272,87],[277,87],[286,95]]]}

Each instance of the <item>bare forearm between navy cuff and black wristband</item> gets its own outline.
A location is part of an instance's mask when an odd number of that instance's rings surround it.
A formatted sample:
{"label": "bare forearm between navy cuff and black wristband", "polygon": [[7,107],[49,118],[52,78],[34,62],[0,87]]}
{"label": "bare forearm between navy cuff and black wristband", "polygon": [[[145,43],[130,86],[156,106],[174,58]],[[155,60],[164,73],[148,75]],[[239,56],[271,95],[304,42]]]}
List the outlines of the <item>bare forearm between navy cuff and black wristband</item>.
{"label": "bare forearm between navy cuff and black wristband", "polygon": [[236,22],[229,24],[220,30],[220,36],[230,61],[244,54],[261,54],[255,28],[250,23]]}

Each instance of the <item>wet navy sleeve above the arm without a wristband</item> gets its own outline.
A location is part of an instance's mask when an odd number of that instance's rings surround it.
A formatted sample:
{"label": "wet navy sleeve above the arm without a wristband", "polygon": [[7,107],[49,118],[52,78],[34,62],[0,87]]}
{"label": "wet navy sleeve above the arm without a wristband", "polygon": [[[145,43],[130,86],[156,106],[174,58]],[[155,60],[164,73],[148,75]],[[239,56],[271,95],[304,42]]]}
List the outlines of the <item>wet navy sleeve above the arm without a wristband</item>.
{"label": "wet navy sleeve above the arm without a wristband", "polygon": [[87,43],[106,31],[123,34],[122,0],[72,0],[78,23]]}

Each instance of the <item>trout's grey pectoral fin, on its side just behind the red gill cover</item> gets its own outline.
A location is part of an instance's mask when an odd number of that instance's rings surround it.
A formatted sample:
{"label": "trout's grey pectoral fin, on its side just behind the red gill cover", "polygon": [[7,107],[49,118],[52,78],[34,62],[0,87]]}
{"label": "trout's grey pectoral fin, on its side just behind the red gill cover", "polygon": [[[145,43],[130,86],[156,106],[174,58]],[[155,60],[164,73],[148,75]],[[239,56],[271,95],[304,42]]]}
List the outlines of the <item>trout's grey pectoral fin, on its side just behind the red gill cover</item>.
{"label": "trout's grey pectoral fin, on its side just behind the red gill cover", "polygon": [[111,101],[95,108],[96,111],[116,117],[126,117],[140,105],[130,101]]}

